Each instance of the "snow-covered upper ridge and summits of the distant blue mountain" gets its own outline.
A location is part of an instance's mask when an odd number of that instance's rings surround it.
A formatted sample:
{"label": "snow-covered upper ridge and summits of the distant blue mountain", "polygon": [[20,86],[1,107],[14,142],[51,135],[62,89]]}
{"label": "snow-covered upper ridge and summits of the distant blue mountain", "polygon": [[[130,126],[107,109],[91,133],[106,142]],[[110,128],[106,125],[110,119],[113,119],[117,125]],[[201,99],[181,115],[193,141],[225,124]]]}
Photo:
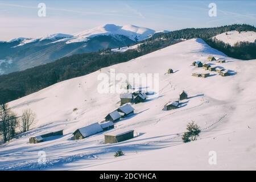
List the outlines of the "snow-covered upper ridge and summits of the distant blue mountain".
{"label": "snow-covered upper ridge and summits of the distant blue mountain", "polygon": [[69,34],[52,34],[43,36],[41,38],[25,39],[18,46],[23,46],[24,44],[41,41],[41,40],[53,40],[52,43],[65,42],[65,43],[77,43],[86,42],[90,38],[99,35],[124,35],[127,38],[134,41],[141,41],[148,38],[150,35],[154,34],[155,31],[150,28],[137,27],[134,25],[117,26],[115,24],[104,24],[89,30],[81,31],[73,35]]}

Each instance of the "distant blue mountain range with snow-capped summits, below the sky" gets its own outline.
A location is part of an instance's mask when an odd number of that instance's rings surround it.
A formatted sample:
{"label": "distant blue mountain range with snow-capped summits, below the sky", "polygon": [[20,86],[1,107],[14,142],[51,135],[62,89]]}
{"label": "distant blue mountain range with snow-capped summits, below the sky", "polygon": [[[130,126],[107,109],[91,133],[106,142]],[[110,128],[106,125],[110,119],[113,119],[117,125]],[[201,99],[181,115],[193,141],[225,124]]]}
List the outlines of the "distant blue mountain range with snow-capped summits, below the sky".
{"label": "distant blue mountain range with snow-capped summits, below the sky", "polygon": [[104,24],[75,34],[16,38],[0,42],[0,75],[51,63],[61,57],[130,46],[159,32],[134,25]]}

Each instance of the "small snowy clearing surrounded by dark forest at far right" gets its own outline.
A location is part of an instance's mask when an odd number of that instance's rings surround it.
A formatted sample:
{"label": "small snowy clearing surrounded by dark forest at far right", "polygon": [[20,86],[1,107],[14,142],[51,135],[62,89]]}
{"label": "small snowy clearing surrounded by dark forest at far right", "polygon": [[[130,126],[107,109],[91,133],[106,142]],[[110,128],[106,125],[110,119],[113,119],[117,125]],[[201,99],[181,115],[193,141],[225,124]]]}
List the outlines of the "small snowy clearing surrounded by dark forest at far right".
{"label": "small snowy clearing surrounded by dark forest at far right", "polygon": [[226,35],[225,32],[214,36],[214,38],[228,43],[231,46],[234,46],[237,42],[255,42],[256,40],[256,32],[254,31],[241,32],[240,34],[238,31],[229,31],[227,33],[228,35]]}

